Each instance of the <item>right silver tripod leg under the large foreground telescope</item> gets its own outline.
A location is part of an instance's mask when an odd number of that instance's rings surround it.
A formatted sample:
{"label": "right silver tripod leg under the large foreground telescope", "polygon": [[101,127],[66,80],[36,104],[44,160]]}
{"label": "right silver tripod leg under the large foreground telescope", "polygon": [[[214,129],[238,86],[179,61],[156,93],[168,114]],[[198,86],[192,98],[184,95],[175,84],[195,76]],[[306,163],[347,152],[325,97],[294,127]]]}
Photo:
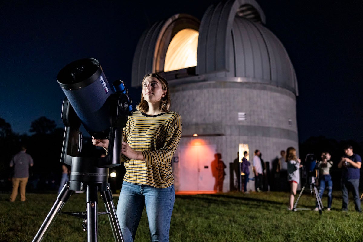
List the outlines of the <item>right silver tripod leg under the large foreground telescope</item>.
{"label": "right silver tripod leg under the large foreground telescope", "polygon": [[113,197],[110,192],[110,188],[107,186],[107,190],[101,192],[102,200],[105,203],[107,215],[109,216],[112,233],[116,242],[123,242],[123,237],[120,229],[120,224],[116,216],[116,209],[113,202]]}

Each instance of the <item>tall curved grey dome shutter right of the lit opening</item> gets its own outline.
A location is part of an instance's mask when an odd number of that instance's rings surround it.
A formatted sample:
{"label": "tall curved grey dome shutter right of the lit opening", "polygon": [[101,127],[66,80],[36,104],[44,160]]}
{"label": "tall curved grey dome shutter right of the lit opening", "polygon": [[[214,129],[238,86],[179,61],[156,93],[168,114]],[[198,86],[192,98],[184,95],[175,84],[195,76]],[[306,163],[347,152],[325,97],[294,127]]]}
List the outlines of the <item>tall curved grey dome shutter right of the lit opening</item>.
{"label": "tall curved grey dome shutter right of the lit opening", "polygon": [[197,63],[205,65],[197,65],[196,74],[229,70],[229,33],[234,17],[243,5],[252,6],[258,14],[258,20],[265,22],[264,13],[254,0],[228,0],[209,7],[201,21],[197,53]]}

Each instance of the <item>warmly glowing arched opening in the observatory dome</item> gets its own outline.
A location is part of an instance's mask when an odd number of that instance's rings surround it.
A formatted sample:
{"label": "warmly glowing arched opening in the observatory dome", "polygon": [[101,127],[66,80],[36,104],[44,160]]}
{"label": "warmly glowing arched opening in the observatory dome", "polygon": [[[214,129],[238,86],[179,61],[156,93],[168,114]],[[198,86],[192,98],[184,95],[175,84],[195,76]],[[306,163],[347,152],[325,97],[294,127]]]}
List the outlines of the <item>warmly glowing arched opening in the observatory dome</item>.
{"label": "warmly glowing arched opening in the observatory dome", "polygon": [[166,52],[164,72],[197,65],[198,37],[195,29],[182,29],[175,34]]}

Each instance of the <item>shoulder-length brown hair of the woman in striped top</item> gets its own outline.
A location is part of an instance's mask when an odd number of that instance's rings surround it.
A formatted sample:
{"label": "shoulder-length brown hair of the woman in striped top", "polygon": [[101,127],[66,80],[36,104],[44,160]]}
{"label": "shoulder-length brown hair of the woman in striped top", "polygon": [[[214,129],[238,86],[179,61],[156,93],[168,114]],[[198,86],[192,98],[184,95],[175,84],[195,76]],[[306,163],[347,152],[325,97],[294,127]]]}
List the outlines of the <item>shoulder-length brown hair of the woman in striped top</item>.
{"label": "shoulder-length brown hair of the woman in striped top", "polygon": [[[166,95],[164,97],[162,97],[160,100],[161,102],[160,102],[159,109],[163,112],[168,111],[170,108],[170,93],[169,93],[168,82],[166,81],[165,78],[163,78],[158,73],[148,73],[144,76],[141,83],[143,83],[147,77],[155,77],[156,79],[158,79],[161,83],[162,89],[166,90]],[[141,92],[141,101],[140,101],[139,105],[136,106],[136,110],[141,111],[141,112],[149,111],[149,106],[148,106],[147,102],[145,101],[144,96],[142,95],[142,92]]]}

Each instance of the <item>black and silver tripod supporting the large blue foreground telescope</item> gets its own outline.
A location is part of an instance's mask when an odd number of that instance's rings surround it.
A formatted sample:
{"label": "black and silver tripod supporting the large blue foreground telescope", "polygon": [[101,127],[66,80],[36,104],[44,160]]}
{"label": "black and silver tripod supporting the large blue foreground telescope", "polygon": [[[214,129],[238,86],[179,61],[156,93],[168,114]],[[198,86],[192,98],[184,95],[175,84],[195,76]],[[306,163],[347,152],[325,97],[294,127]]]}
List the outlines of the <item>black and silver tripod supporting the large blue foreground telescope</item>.
{"label": "black and silver tripod supporting the large blue foreground telescope", "polygon": [[[83,165],[87,161],[83,161],[82,159],[76,160],[74,163],[74,166],[71,168],[70,181],[64,185],[62,191],[59,193],[56,202],[52,209],[50,209],[38,233],[35,235],[33,242],[40,242],[44,239],[59,213],[83,218],[83,230],[87,231],[87,241],[97,242],[98,214],[105,214],[98,213],[98,192],[101,193],[102,201],[105,203],[106,214],[109,217],[115,241],[123,242],[113,197],[107,183],[109,169],[93,166],[88,166],[86,169],[83,169]],[[62,212],[63,206],[73,192],[83,190],[86,191],[86,212]]]}

